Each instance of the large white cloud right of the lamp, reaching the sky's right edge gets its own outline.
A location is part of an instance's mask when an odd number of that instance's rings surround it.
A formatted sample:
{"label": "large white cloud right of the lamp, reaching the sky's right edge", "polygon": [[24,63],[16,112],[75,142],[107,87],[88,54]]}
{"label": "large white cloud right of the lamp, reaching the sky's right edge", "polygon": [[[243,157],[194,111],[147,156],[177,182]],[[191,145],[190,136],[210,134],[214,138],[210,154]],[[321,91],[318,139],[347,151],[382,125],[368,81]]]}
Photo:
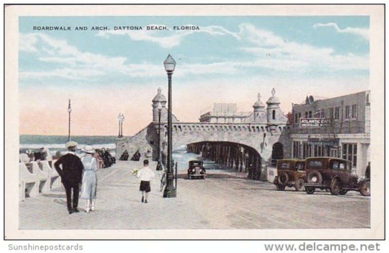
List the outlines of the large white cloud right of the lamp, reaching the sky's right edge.
{"label": "large white cloud right of the lamp, reaching the sky's right edge", "polygon": [[240,33],[254,47],[242,47],[256,58],[252,65],[280,71],[328,71],[328,70],[367,70],[368,55],[336,54],[330,47],[314,47],[287,41],[273,32],[257,29],[251,24],[241,24]]}

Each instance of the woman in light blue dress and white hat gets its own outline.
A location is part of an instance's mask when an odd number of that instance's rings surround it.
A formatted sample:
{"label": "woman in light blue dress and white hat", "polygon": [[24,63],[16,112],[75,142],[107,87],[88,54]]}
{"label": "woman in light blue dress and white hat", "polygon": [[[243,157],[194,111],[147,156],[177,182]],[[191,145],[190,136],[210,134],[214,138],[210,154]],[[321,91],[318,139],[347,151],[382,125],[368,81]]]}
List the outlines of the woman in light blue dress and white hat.
{"label": "woman in light blue dress and white hat", "polygon": [[93,157],[94,149],[91,145],[86,145],[83,149],[86,153],[81,158],[84,165],[82,176],[81,198],[87,200],[85,211],[88,213],[94,211],[97,189],[97,160]]}

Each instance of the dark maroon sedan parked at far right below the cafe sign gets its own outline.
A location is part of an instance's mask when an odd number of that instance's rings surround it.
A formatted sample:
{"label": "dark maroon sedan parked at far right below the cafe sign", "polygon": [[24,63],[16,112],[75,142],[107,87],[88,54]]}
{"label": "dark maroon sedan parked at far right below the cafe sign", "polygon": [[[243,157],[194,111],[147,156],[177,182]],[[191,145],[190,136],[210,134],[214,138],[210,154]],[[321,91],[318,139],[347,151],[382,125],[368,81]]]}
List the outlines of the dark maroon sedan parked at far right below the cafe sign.
{"label": "dark maroon sedan parked at far right below the cafe sign", "polygon": [[351,162],[340,158],[312,157],[305,159],[307,174],[305,191],[313,194],[317,188],[329,189],[332,195],[344,195],[349,190],[370,196],[370,179],[351,173]]}

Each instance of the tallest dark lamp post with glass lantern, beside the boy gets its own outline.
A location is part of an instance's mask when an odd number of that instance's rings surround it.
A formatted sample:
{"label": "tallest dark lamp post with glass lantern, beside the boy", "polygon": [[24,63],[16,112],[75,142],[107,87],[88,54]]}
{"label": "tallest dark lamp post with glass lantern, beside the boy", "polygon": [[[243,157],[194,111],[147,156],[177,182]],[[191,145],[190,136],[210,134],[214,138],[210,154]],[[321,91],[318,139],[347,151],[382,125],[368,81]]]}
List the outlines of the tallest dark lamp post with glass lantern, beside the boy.
{"label": "tallest dark lamp post with glass lantern, beside the boy", "polygon": [[163,62],[165,66],[165,71],[168,77],[169,83],[169,92],[168,92],[168,114],[167,114],[167,177],[166,177],[166,187],[163,191],[164,198],[175,198],[177,197],[177,190],[174,187],[173,181],[173,164],[172,164],[172,75],[173,71],[176,68],[176,61],[169,54],[166,60]]}

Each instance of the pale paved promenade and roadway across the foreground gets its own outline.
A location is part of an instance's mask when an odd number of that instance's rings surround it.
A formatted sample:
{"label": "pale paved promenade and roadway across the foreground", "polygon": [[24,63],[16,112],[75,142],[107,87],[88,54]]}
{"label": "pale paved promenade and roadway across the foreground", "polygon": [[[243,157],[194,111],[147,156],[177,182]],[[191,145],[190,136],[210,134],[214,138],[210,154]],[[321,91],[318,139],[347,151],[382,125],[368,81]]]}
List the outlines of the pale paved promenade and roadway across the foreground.
{"label": "pale paved promenade and roadway across the foreground", "polygon": [[[313,195],[288,188],[277,191],[268,182],[249,180],[234,172],[209,171],[205,180],[187,180],[181,174],[177,198],[172,199],[162,198],[157,175],[151,182],[149,203],[144,204],[139,180],[130,173],[141,165],[141,161],[118,161],[100,169],[96,210],[90,213],[84,212],[85,201],[80,200],[80,212],[69,215],[62,187],[25,199],[19,204],[19,229],[370,227],[370,197],[358,192],[332,196],[325,191]],[[152,162],[150,167],[155,165]]]}

